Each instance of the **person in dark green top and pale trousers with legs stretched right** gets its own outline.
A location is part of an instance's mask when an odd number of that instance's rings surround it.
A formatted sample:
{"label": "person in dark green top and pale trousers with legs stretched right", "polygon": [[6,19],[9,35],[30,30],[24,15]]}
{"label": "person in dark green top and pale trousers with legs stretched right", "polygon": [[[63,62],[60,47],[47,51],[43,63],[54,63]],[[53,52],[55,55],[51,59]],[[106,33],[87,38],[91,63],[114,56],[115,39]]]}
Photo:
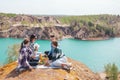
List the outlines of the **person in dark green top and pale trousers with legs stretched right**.
{"label": "person in dark green top and pale trousers with legs stretched right", "polygon": [[62,50],[58,48],[58,42],[52,42],[53,53],[51,54],[52,58],[48,61],[50,66],[61,67],[63,69],[70,70],[71,63],[68,63],[67,57],[62,53]]}

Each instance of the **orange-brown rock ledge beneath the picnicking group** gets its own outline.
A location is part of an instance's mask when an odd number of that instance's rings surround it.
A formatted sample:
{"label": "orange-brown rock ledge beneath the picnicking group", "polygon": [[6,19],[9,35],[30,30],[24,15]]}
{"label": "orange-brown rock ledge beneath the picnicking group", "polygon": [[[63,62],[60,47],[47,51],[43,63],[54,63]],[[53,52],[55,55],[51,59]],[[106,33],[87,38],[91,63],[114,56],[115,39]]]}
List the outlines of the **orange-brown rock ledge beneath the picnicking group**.
{"label": "orange-brown rock ledge beneath the picnicking group", "polygon": [[22,73],[16,73],[17,63],[10,63],[0,68],[0,80],[101,80],[84,64],[69,59],[73,69],[67,72],[63,69],[32,69]]}

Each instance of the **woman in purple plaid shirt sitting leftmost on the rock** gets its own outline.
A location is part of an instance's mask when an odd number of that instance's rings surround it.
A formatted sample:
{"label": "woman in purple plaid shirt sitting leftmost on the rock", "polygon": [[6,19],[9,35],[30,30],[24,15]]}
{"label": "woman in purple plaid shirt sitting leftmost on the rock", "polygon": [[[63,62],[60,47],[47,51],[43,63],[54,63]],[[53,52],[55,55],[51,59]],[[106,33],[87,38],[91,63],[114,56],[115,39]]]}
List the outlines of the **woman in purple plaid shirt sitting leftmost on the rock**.
{"label": "woman in purple plaid shirt sitting leftmost on the rock", "polygon": [[20,53],[18,57],[18,69],[32,69],[32,67],[29,64],[30,56],[32,54],[32,51],[29,48],[29,42],[30,41],[28,39],[25,39],[21,44]]}

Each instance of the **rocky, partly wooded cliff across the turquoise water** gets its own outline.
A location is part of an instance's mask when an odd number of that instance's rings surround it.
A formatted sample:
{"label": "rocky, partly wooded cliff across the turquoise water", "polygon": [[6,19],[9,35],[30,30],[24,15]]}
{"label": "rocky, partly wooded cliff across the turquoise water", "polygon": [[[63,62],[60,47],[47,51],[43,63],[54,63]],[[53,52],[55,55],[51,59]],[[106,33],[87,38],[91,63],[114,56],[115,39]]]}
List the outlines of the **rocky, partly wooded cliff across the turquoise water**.
{"label": "rocky, partly wooded cliff across the turquoise water", "polygon": [[38,39],[72,37],[81,40],[108,39],[120,36],[119,15],[33,16],[0,14],[0,37],[24,38],[36,34]]}

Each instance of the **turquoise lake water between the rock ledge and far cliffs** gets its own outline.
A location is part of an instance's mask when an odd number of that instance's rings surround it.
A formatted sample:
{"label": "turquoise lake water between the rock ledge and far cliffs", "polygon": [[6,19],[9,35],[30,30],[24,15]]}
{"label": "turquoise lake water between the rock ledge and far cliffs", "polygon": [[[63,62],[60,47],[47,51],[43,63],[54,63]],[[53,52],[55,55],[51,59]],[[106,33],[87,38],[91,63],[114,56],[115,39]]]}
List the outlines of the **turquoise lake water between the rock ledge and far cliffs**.
{"label": "turquoise lake water between the rock ledge and far cliffs", "polygon": [[[21,43],[22,39],[0,38],[0,63],[6,60],[8,46]],[[39,51],[50,50],[48,40],[37,40],[40,44]],[[116,63],[120,68],[120,38],[103,41],[81,41],[76,39],[64,39],[59,41],[63,52],[80,62],[83,62],[95,72],[104,70],[107,63]]]}

